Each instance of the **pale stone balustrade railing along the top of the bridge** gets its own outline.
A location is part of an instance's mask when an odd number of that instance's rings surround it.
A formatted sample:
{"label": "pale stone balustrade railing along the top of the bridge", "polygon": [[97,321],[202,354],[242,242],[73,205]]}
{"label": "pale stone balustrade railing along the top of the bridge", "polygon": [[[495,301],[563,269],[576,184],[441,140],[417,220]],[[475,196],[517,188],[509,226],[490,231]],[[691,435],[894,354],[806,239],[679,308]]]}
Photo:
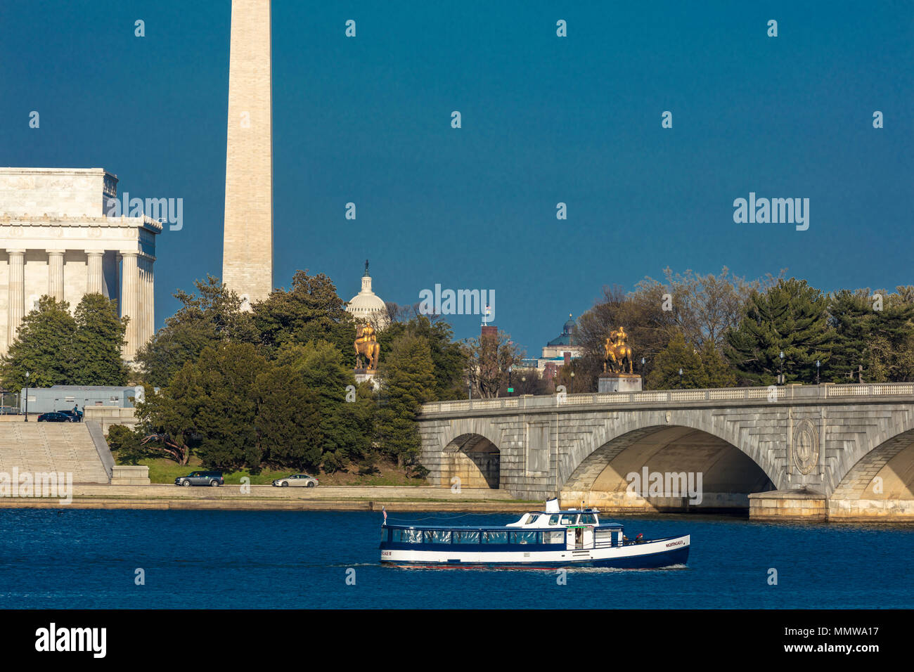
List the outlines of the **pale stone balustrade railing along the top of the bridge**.
{"label": "pale stone balustrade railing along the top of the bridge", "polygon": [[717,388],[717,389],[652,389],[643,392],[588,392],[585,394],[524,395],[462,401],[434,401],[422,406],[425,413],[455,413],[466,411],[498,411],[502,409],[544,409],[558,406],[586,406],[588,404],[682,403],[687,401],[752,401],[768,400],[846,400],[848,397],[914,397],[914,383],[855,383],[851,385],[771,385],[767,388]]}

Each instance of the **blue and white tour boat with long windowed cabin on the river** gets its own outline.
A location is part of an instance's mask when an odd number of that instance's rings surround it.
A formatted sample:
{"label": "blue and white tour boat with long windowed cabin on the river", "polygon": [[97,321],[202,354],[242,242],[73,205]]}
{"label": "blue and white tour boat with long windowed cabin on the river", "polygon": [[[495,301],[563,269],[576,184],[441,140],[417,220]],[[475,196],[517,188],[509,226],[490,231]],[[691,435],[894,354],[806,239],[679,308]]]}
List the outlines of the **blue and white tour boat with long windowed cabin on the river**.
{"label": "blue and white tour boat with long windowed cabin on the river", "polygon": [[600,522],[595,508],[531,511],[502,527],[381,526],[381,563],[399,567],[608,567],[685,565],[689,536],[627,539],[621,523]]}

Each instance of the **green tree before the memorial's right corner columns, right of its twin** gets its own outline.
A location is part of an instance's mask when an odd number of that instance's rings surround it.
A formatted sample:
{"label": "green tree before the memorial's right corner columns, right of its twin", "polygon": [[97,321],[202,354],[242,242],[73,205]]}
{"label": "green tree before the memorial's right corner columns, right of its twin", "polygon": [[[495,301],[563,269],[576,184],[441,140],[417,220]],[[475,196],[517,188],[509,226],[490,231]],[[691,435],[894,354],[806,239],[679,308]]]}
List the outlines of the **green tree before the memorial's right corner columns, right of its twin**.
{"label": "green tree before the memorial's right corner columns, right of its twin", "polygon": [[99,293],[86,294],[76,306],[74,385],[127,384],[129,369],[121,348],[129,318],[119,318],[117,303]]}

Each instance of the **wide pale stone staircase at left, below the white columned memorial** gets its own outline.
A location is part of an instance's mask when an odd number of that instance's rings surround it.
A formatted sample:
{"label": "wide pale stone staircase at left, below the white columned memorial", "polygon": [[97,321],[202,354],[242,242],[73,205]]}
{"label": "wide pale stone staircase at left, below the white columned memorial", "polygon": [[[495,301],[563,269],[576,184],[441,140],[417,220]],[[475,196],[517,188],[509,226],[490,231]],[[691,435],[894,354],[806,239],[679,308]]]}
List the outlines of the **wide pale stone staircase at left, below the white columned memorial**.
{"label": "wide pale stone staircase at left, below the white columned memorial", "polygon": [[72,474],[73,483],[109,482],[84,422],[0,423],[0,472]]}

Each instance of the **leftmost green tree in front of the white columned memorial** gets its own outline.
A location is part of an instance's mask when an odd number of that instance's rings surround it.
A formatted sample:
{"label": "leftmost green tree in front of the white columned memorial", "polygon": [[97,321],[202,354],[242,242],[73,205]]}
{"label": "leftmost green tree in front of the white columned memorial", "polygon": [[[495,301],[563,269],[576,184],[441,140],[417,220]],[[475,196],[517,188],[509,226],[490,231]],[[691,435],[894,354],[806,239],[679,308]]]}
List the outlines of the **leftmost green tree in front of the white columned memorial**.
{"label": "leftmost green tree in front of the white columned memorial", "polygon": [[69,385],[73,379],[76,321],[69,314],[69,304],[51,296],[42,296],[37,309],[23,319],[16,339],[0,364],[5,387],[28,386],[48,388]]}

